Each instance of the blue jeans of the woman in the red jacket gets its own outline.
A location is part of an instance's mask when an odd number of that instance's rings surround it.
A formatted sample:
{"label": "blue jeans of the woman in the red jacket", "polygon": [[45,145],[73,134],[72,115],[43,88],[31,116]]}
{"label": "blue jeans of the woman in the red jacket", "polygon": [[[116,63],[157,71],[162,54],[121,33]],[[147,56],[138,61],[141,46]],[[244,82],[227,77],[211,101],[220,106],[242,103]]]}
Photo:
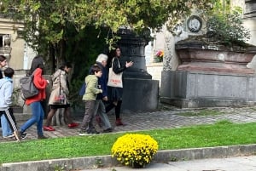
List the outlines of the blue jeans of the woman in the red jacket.
{"label": "blue jeans of the woman in the red jacket", "polygon": [[30,104],[32,109],[32,117],[26,121],[21,127],[20,132],[23,133],[27,128],[30,128],[32,124],[37,123],[38,135],[43,135],[43,122],[44,122],[44,110],[40,101],[32,102]]}

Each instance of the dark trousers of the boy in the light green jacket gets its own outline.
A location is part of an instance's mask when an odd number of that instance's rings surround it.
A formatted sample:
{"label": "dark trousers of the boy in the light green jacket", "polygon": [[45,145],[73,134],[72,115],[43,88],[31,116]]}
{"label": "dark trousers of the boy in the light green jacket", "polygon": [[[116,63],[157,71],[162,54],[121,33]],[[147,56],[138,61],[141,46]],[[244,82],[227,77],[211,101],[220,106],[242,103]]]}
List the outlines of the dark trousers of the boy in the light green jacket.
{"label": "dark trousers of the boy in the light green jacket", "polygon": [[81,129],[90,131],[93,127],[93,118],[94,118],[94,106],[95,100],[86,100],[85,101],[85,112],[83,123],[81,124]]}

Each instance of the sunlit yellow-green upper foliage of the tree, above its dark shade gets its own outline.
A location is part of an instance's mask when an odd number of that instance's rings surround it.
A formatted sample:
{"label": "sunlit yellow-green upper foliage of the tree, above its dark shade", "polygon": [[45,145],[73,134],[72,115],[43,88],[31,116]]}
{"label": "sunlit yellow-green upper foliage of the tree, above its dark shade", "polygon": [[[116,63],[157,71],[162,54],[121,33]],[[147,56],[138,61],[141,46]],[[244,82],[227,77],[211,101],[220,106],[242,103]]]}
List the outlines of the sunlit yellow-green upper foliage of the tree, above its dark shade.
{"label": "sunlit yellow-green upper foliage of the tree, above its dark shade", "polygon": [[[32,48],[67,41],[70,28],[109,28],[106,43],[120,26],[134,31],[145,27],[172,29],[193,6],[209,8],[214,0],[1,0],[1,9],[25,24],[24,38]],[[89,33],[90,34],[90,33]],[[101,29],[98,37],[101,36]]]}

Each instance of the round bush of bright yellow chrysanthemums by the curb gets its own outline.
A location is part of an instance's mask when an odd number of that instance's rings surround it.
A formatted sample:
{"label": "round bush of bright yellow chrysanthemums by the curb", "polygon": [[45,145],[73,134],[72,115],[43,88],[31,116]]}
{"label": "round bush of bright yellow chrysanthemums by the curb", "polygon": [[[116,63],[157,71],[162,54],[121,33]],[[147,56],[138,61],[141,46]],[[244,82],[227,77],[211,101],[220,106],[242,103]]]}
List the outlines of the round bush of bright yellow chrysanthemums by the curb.
{"label": "round bush of bright yellow chrysanthemums by the curb", "polygon": [[126,166],[143,168],[158,150],[158,143],[147,134],[125,134],[112,146],[112,157]]}

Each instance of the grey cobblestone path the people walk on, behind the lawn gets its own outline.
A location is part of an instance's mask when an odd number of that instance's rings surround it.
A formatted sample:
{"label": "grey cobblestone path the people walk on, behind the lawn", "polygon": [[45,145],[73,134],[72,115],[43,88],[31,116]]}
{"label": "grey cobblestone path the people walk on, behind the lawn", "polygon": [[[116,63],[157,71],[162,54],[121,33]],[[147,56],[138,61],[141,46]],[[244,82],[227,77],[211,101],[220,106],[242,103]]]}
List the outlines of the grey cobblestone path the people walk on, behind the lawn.
{"label": "grey cobblestone path the people walk on, behind the lawn", "polygon": [[[125,127],[115,127],[113,132],[148,130],[154,128],[178,128],[195,124],[216,123],[220,120],[230,120],[234,123],[252,123],[256,122],[256,106],[248,106],[241,108],[217,108],[207,109],[212,111],[220,111],[221,115],[197,116],[201,110],[180,110],[177,108],[166,109],[166,111],[154,112],[137,112],[137,113],[122,113],[121,117],[127,125]],[[183,116],[182,113],[192,112],[193,116]],[[114,115],[108,114],[110,123],[114,125]],[[81,123],[82,117],[76,117],[76,122]],[[18,127],[24,122],[18,122]],[[55,126],[55,131],[44,132],[49,138],[66,137],[79,134],[79,128],[67,128],[64,126]],[[26,130],[26,140],[37,139],[36,126]],[[12,139],[3,139],[2,130],[0,130],[0,142],[11,141]]]}

